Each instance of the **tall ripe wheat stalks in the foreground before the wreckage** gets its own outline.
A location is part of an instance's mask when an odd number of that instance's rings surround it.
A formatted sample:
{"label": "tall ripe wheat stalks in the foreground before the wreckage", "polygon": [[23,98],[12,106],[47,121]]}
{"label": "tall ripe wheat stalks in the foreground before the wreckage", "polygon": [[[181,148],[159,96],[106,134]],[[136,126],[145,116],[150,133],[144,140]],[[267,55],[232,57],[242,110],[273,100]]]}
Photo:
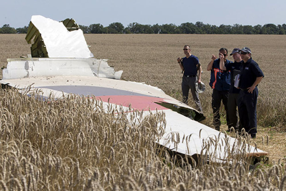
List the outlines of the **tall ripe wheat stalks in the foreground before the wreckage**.
{"label": "tall ripe wheat stalks in the foreground before the wreckage", "polygon": [[[3,190],[283,190],[286,186],[286,158],[250,169],[244,150],[245,143],[252,144],[249,137],[237,137],[241,149],[235,153],[226,149],[230,158],[223,164],[180,167],[164,149],[156,155],[154,142],[163,134],[163,113],[142,118],[133,111],[127,117],[120,107],[102,112],[96,99],[73,95],[47,101],[9,89],[0,95]],[[228,147],[216,140],[206,142],[202,153],[210,158],[212,144],[217,149]]]}

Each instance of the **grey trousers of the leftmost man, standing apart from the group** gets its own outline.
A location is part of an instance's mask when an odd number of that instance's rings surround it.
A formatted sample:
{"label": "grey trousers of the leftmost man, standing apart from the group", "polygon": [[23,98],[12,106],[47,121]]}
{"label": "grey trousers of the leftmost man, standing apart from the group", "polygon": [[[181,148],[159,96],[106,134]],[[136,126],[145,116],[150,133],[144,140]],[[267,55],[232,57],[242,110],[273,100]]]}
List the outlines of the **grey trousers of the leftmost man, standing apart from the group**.
{"label": "grey trousers of the leftmost man, standing apart from the group", "polygon": [[200,99],[198,98],[198,91],[196,91],[196,77],[183,77],[182,79],[182,93],[183,93],[183,102],[188,104],[188,96],[189,90],[191,89],[191,93],[194,99],[194,102],[197,106],[197,110],[202,112],[202,106],[200,104]]}

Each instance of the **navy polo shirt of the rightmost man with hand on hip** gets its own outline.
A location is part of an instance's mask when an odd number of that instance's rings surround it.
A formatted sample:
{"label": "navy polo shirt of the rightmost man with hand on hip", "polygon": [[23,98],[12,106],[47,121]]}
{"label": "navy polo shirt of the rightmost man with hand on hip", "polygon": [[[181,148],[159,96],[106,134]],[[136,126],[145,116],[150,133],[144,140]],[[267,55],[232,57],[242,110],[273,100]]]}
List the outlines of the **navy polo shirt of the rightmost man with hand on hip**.
{"label": "navy polo shirt of the rightmost man with hand on hip", "polygon": [[247,89],[251,87],[257,77],[264,77],[262,70],[258,64],[250,58],[246,63],[241,64],[241,75],[239,79],[239,87]]}

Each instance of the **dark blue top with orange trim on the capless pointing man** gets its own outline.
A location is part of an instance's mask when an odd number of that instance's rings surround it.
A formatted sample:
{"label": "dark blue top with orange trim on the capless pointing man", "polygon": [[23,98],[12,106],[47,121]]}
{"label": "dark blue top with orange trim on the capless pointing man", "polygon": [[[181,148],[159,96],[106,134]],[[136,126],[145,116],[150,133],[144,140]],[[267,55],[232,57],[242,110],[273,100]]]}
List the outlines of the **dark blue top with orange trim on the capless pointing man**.
{"label": "dark blue top with orange trim on the capless pointing man", "polygon": [[[231,73],[230,71],[221,70],[219,68],[220,59],[216,59],[212,64],[212,70],[210,71],[210,87],[219,91],[228,91],[231,86]],[[225,65],[232,63],[227,60]]]}

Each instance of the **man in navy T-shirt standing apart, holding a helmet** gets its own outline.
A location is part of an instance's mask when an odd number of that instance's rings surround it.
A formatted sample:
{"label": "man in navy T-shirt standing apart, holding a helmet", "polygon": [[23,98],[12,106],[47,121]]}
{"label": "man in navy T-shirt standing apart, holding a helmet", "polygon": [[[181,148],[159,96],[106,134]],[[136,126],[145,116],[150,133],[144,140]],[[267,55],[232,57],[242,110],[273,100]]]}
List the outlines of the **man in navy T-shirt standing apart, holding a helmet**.
{"label": "man in navy T-shirt standing apart, holding a helmet", "polygon": [[[180,68],[184,71],[182,79],[182,93],[183,93],[183,102],[188,104],[188,95],[189,89],[194,99],[194,102],[197,106],[197,110],[202,112],[202,106],[200,104],[200,99],[198,98],[198,91],[196,90],[196,82],[201,83],[202,67],[199,64],[198,58],[191,54],[190,46],[185,45],[184,54],[186,57],[182,59],[179,57],[177,59]],[[198,77],[197,77],[198,73]]]}

